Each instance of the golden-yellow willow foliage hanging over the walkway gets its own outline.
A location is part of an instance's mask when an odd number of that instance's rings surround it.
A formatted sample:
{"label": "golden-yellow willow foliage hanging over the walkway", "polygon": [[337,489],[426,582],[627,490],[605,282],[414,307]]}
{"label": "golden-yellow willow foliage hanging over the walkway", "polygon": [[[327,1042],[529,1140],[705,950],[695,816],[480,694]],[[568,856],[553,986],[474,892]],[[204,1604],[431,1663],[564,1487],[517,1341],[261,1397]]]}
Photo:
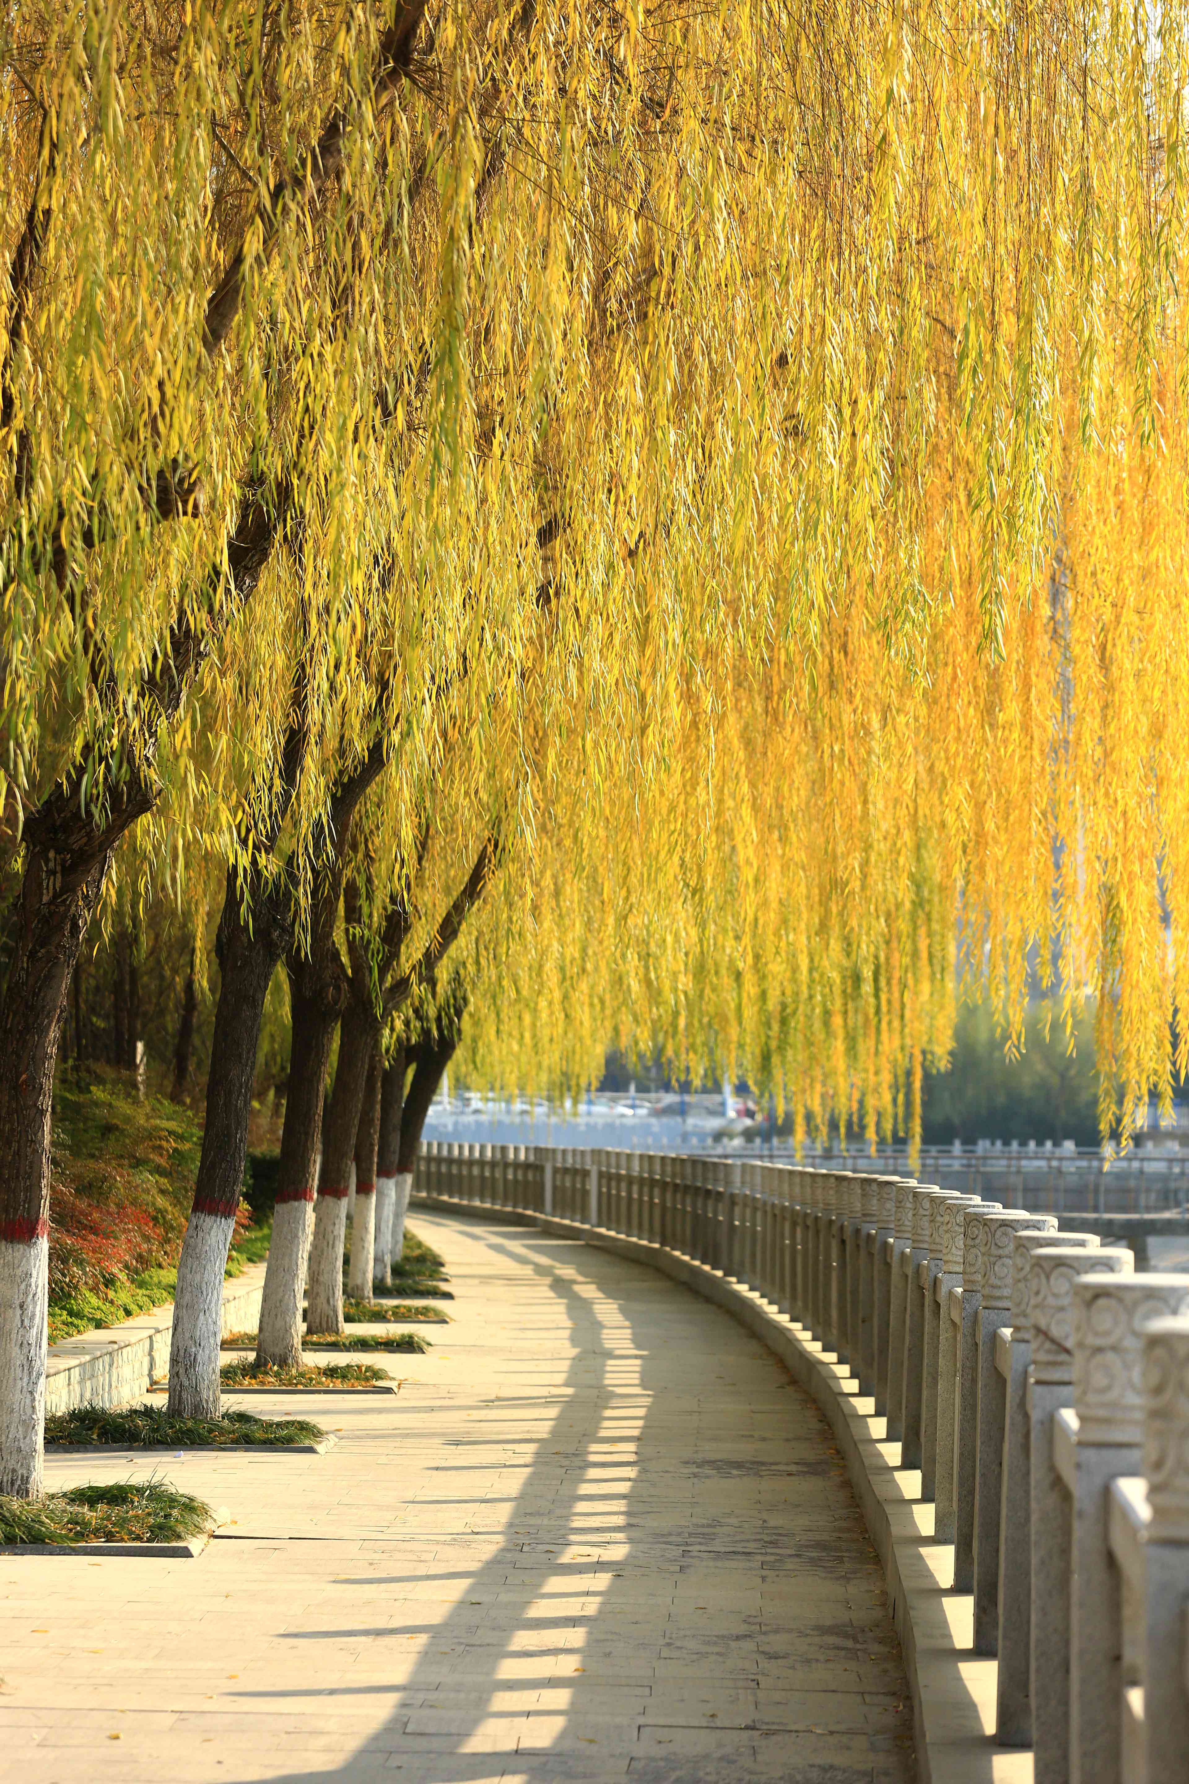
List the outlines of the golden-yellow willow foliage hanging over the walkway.
{"label": "golden-yellow willow foliage hanging over the walkway", "polygon": [[[0,27],[5,244],[50,218],[0,441],[23,808],[155,747],[180,881],[267,799],[301,669],[298,858],[376,723],[367,847],[399,883],[430,826],[426,922],[499,837],[472,1070],[656,1037],[913,1126],[957,942],[1013,1022],[1030,947],[1096,992],[1125,1106],[1166,1090],[1184,7],[444,0],[378,96],[390,16]],[[340,175],[260,211],[332,107]],[[294,523],[225,614],[244,480]],[[178,608],[209,662],[157,737]]]}

